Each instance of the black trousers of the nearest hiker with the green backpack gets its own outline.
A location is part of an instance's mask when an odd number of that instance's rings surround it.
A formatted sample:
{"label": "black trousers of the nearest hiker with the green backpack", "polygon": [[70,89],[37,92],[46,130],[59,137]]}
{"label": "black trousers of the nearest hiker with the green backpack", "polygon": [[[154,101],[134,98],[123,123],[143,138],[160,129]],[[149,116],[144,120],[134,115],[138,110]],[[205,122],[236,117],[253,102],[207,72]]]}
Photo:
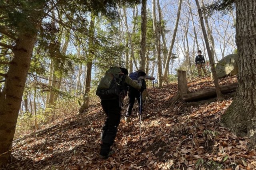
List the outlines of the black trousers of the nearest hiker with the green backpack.
{"label": "black trousers of the nearest hiker with the green backpack", "polygon": [[110,152],[110,146],[113,145],[116,138],[117,127],[121,119],[121,107],[119,100],[102,100],[101,106],[106,113],[106,121],[102,127],[100,139],[102,145],[100,155],[107,156]]}

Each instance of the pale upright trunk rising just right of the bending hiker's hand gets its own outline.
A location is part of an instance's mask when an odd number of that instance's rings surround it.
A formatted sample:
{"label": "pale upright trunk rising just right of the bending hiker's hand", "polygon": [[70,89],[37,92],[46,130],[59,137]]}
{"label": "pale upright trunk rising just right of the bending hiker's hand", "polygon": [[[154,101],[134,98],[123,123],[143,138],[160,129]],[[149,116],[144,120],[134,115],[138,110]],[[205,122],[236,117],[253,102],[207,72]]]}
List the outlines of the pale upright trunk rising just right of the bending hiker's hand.
{"label": "pale upright trunk rising just right of the bending hiker's hand", "polygon": [[158,65],[158,87],[162,87],[161,33],[156,20],[156,0],[152,0],[152,18],[155,39],[156,58]]}

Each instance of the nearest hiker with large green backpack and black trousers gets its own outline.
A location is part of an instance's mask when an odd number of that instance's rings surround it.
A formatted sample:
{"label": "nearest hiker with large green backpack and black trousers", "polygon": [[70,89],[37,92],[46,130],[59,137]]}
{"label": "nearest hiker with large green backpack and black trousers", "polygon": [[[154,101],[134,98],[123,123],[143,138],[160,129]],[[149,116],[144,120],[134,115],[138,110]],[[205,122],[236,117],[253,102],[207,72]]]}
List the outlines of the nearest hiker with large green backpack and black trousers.
{"label": "nearest hiker with large green backpack and black trousers", "polygon": [[106,159],[113,154],[110,147],[116,138],[122,102],[127,95],[128,86],[141,89],[140,84],[135,83],[128,76],[128,70],[122,67],[112,67],[107,70],[98,85],[96,95],[100,97],[102,109],[106,113],[106,121],[100,136],[100,159]]}

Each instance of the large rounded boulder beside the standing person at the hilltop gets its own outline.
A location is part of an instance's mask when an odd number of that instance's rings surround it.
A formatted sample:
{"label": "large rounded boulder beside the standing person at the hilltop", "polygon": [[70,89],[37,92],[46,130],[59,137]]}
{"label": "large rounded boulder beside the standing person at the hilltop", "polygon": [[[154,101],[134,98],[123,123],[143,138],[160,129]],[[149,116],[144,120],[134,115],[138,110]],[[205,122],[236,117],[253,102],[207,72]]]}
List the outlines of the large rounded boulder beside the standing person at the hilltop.
{"label": "large rounded boulder beside the standing person at the hilltop", "polygon": [[215,70],[218,78],[236,75],[238,73],[238,55],[227,55],[216,64]]}

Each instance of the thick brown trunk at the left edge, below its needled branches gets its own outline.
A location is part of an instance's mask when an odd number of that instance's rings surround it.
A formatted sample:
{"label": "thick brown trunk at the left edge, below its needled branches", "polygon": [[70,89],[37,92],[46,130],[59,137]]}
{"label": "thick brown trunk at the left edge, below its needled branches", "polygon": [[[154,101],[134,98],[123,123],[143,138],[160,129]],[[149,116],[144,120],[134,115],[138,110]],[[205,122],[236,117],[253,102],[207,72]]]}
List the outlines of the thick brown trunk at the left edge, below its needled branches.
{"label": "thick brown trunk at the left edge, below its needled branches", "polygon": [[0,93],[0,166],[7,162],[11,153],[10,149],[35,42],[36,34],[20,35],[16,46],[12,49],[14,56],[6,74],[4,90]]}

